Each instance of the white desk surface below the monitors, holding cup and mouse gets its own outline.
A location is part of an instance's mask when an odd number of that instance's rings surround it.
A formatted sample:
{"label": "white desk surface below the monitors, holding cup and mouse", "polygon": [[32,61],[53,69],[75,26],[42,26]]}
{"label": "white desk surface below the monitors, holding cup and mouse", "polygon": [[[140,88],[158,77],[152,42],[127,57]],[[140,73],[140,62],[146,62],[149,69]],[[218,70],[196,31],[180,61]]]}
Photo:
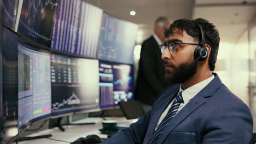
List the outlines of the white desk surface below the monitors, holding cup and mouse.
{"label": "white desk surface below the monitors, holding cup and mouse", "polygon": [[[115,121],[118,121],[119,127],[129,127],[129,125],[133,121],[127,120],[125,117],[107,117],[106,119],[112,119]],[[101,138],[107,138],[107,135],[101,134],[101,132],[98,129],[102,128],[102,118],[85,118],[81,119],[79,121],[76,121],[75,123],[86,123],[86,122],[95,122],[96,124],[89,124],[89,125],[68,125],[63,126],[65,128],[65,131],[61,131],[59,128],[53,128],[53,129],[47,129],[40,131],[39,133],[35,133],[32,135],[27,136],[39,136],[39,135],[47,135],[52,134],[53,136],[50,137],[51,139],[56,140],[62,140],[62,141],[68,141],[73,142],[77,140],[79,137],[84,137],[86,135],[95,134],[100,136]],[[30,140],[30,141],[21,141],[18,142],[19,144],[48,144],[48,143],[66,143],[61,141],[54,141],[49,139],[37,139],[37,140]]]}

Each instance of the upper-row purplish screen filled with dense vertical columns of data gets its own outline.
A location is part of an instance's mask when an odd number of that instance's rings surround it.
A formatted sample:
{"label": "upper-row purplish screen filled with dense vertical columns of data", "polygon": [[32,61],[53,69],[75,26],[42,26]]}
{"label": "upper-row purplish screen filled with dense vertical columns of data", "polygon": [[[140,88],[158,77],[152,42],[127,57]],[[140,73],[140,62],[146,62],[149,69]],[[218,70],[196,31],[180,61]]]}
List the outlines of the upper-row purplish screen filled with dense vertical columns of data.
{"label": "upper-row purplish screen filled with dense vertical columns of data", "polygon": [[59,1],[51,47],[96,58],[102,13],[102,9],[82,0]]}

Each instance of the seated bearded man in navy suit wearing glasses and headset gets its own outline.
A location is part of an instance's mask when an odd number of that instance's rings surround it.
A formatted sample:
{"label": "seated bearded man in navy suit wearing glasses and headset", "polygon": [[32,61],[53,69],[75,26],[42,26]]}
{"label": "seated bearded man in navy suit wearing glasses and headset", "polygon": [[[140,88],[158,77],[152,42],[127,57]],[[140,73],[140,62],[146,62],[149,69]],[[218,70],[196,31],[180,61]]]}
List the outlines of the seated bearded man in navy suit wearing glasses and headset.
{"label": "seated bearded man in navy suit wearing glasses and headset", "polygon": [[104,143],[249,143],[248,106],[212,73],[219,33],[205,19],[177,20],[165,33],[166,88],[152,109]]}

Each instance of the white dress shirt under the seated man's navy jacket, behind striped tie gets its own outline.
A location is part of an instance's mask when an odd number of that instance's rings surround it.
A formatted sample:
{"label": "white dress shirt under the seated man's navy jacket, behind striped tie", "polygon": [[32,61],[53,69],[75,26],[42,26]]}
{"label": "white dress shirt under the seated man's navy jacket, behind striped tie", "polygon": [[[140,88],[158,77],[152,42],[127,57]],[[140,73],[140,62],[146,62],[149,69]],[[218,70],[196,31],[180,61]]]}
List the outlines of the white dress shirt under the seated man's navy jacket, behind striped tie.
{"label": "white dress shirt under the seated man's navy jacket, behind striped tie", "polygon": [[[182,89],[182,86],[179,87],[179,92],[182,92],[182,98],[184,100],[184,103],[181,103],[181,105],[179,105],[179,109],[177,111],[177,113],[179,111],[181,111],[181,109],[187,105],[189,103],[189,101],[195,97],[195,95],[197,93],[199,93],[205,86],[208,85],[208,83],[210,83],[212,80],[214,79],[214,75],[212,75],[211,77],[209,77],[208,79],[206,80],[203,80],[199,83],[196,83],[196,85],[194,86],[191,86],[185,90]],[[155,130],[158,128],[159,124],[161,123],[162,119],[164,119],[164,117],[166,116],[168,110],[170,109],[170,107],[172,106],[172,103],[175,99],[173,99],[171,101],[171,103],[167,106],[167,108],[165,109],[165,111],[162,113],[162,115],[160,116],[159,120],[158,120],[158,124],[156,125],[156,128]],[[176,115],[177,115],[176,113]]]}

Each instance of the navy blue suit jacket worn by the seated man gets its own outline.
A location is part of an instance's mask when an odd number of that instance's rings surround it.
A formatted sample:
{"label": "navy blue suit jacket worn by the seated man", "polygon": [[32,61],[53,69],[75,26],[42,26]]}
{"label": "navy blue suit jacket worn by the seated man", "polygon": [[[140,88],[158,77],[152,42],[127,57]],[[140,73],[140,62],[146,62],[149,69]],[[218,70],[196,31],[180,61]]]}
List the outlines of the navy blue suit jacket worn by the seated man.
{"label": "navy blue suit jacket worn by the seated man", "polygon": [[[248,106],[213,74],[214,79],[172,118],[158,143],[249,143],[253,119]],[[104,143],[148,143],[178,91],[178,85],[166,88],[148,113]]]}

